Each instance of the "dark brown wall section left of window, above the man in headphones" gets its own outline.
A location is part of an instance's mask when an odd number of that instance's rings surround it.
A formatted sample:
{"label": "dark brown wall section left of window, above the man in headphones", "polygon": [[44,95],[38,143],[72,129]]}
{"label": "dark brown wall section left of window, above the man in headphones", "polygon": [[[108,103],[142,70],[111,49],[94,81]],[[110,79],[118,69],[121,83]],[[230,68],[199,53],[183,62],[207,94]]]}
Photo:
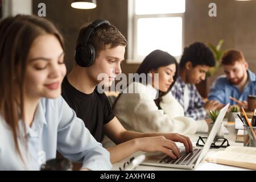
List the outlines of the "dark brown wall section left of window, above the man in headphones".
{"label": "dark brown wall section left of window, above the man in headphones", "polygon": [[92,10],[73,9],[71,0],[34,0],[34,14],[37,14],[41,2],[46,3],[46,18],[52,20],[64,35],[68,72],[74,63],[75,43],[80,27],[85,22],[108,19],[127,37],[127,0],[98,0],[96,9]]}

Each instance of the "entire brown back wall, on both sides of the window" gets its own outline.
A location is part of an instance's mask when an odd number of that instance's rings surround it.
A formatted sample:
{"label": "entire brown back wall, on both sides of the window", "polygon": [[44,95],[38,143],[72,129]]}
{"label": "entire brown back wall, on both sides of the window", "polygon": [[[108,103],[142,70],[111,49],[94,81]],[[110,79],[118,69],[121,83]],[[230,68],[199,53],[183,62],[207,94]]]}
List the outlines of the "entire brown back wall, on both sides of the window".
{"label": "entire brown back wall, on both sides of the window", "polygon": [[[108,19],[127,37],[127,0],[97,0],[96,9],[72,9],[71,0],[34,0],[33,13],[38,3],[47,7],[47,18],[52,20],[64,34],[67,47],[67,68],[73,65],[73,50],[82,21],[96,18]],[[217,17],[208,16],[210,2],[217,4]],[[217,44],[223,38],[224,49],[241,49],[256,72],[256,1],[234,0],[187,0],[185,11],[184,46],[195,41]],[[122,64],[124,73],[133,73],[138,64]]]}

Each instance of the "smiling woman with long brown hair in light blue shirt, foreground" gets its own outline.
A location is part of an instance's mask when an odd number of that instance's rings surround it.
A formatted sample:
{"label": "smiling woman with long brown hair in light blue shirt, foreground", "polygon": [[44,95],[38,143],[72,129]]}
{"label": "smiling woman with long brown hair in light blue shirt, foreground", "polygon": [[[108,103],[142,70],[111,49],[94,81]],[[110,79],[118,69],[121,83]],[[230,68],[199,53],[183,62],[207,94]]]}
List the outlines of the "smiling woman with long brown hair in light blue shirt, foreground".
{"label": "smiling woman with long brown hair in light blue shirt, foreground", "polygon": [[46,19],[0,22],[0,170],[39,170],[56,150],[82,169],[108,170],[109,152],[60,96],[64,42]]}

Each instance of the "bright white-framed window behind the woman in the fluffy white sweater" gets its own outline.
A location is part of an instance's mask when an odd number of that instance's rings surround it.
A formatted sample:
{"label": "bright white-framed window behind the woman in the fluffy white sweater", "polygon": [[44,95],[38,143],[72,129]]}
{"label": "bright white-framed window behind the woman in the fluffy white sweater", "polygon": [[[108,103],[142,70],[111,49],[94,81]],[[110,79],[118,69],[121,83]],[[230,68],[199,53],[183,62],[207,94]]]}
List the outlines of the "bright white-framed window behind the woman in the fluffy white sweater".
{"label": "bright white-framed window behind the woman in the fluffy white sweater", "polygon": [[177,59],[183,49],[185,0],[129,0],[128,63],[161,49]]}

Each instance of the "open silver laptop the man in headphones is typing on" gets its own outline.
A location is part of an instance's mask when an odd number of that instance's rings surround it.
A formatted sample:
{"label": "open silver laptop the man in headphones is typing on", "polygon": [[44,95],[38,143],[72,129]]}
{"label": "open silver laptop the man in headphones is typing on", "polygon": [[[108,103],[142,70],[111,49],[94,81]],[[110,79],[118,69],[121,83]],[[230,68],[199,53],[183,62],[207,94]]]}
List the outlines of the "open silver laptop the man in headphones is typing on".
{"label": "open silver laptop the man in headphones is typing on", "polygon": [[205,154],[207,154],[210,145],[212,144],[217,131],[220,129],[221,122],[228,110],[229,104],[223,107],[218,114],[216,121],[210,131],[210,134],[205,142],[203,148],[193,147],[193,152],[185,152],[185,147],[180,147],[180,158],[172,159],[170,156],[160,153],[151,152],[146,153],[146,159],[141,163],[141,165],[146,166],[160,166],[160,167],[171,167],[171,168],[183,168],[183,169],[193,169],[201,162]]}

